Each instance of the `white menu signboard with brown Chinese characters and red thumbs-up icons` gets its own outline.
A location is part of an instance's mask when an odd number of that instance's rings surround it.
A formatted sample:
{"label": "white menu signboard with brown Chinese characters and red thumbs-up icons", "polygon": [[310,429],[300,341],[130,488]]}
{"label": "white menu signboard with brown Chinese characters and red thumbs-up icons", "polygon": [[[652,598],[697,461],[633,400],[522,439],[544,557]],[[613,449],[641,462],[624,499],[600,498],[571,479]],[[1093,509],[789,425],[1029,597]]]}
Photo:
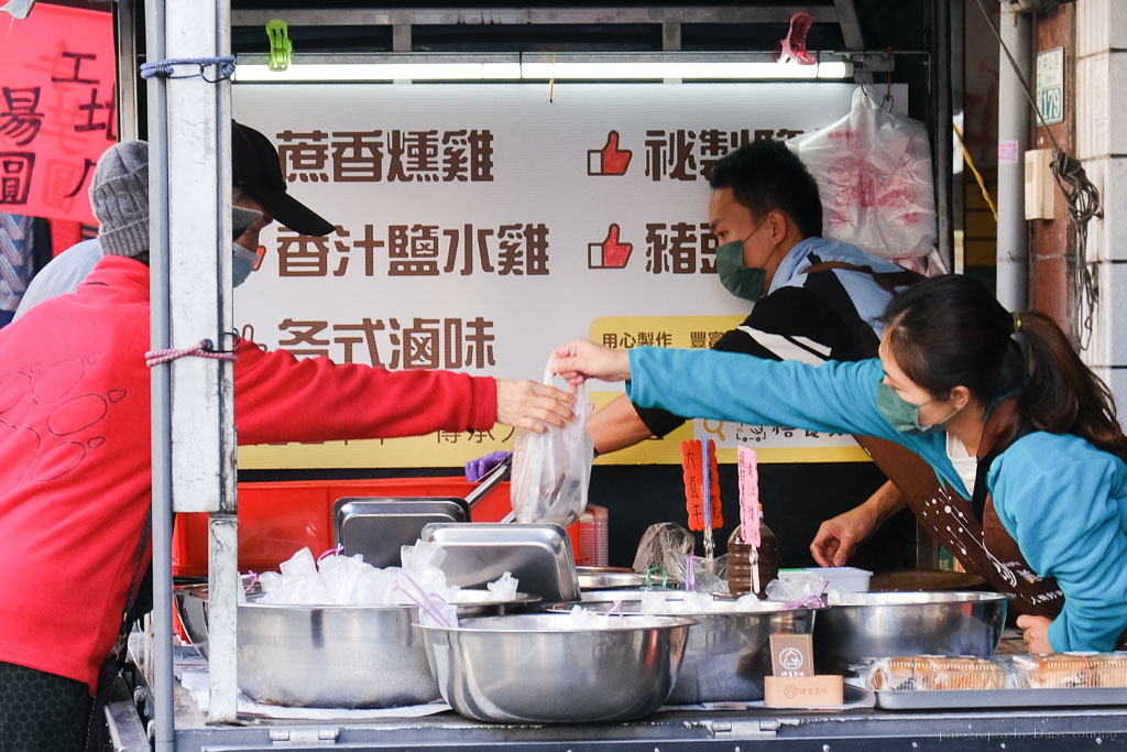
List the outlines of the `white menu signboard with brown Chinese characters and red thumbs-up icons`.
{"label": "white menu signboard with brown Chinese characters and red thumbs-up icons", "polygon": [[[708,346],[707,331],[674,336],[673,320],[749,310],[716,275],[711,166],[754,139],[833,123],[852,91],[557,85],[550,103],[533,85],[237,85],[236,118],[270,138],[290,192],[337,231],[267,229],[236,319],[299,356],[502,378],[539,379],[554,345],[619,319],[653,325],[624,329],[619,346]],[[396,440],[383,459],[243,452],[240,465],[451,466],[511,446],[508,433],[472,446]],[[385,459],[410,441],[427,457]]]}

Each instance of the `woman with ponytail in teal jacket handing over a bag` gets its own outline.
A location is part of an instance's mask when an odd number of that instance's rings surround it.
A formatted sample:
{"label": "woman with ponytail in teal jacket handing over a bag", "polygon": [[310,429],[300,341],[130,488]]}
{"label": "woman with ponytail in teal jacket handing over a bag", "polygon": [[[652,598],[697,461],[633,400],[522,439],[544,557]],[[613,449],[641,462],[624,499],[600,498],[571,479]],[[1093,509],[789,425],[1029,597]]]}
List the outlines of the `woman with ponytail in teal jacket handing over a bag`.
{"label": "woman with ponytail in teal jacket handing over a bag", "polygon": [[552,366],[573,383],[625,380],[635,404],[678,415],[907,446],[974,497],[987,545],[993,520],[1056,578],[1059,613],[1018,620],[1031,652],[1112,649],[1127,628],[1127,437],[1108,388],[1051,319],[1006,311],[968,277],[920,282],[884,319],[880,357],[855,363],[576,340]]}

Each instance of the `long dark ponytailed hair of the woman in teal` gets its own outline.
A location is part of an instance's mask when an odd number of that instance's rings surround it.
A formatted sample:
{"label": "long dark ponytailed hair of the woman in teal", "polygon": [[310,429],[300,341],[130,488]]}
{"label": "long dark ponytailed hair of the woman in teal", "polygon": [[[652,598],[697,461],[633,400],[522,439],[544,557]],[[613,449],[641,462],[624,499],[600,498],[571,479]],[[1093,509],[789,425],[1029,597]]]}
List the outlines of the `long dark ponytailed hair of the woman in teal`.
{"label": "long dark ponytailed hair of the woman in teal", "polygon": [[[983,284],[949,274],[893,298],[882,320],[896,363],[932,396],[962,386],[990,405],[1019,391],[1018,415],[1033,428],[1075,434],[1127,461],[1111,391],[1044,313],[1014,317]],[[1008,442],[1018,428],[997,439]]]}

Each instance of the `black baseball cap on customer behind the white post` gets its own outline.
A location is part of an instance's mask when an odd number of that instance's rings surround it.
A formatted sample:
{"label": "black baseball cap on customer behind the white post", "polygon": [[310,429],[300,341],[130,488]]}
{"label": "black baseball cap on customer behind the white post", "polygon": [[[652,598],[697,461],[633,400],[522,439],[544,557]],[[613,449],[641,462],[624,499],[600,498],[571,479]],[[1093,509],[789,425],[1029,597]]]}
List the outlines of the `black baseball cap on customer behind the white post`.
{"label": "black baseball cap on customer behind the white post", "polygon": [[278,222],[302,235],[329,235],[336,228],[285,189],[274,144],[252,127],[231,121],[231,171],[234,187],[254,198]]}

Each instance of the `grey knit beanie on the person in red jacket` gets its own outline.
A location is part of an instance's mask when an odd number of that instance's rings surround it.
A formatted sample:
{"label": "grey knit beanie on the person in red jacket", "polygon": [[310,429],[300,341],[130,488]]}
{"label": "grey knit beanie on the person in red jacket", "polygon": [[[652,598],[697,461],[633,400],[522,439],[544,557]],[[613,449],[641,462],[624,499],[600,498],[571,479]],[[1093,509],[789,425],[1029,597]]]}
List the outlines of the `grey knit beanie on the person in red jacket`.
{"label": "grey knit beanie on the person in red jacket", "polygon": [[125,141],[101,154],[90,183],[90,206],[100,227],[101,253],[137,256],[149,250],[149,144]]}

